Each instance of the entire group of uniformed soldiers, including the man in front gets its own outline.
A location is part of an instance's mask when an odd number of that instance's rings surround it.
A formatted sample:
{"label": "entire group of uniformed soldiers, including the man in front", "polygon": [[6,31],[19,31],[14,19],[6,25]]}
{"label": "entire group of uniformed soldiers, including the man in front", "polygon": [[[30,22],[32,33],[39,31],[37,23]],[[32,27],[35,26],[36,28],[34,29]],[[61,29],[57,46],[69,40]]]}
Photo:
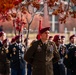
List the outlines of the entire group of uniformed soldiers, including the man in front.
{"label": "entire group of uniformed soldiers, including the man in front", "polygon": [[[65,44],[65,36],[60,35],[55,35],[51,41],[49,27],[46,27],[40,30],[39,37],[26,51],[26,44],[20,42],[20,35],[13,37],[8,44],[6,34],[1,31],[0,75],[25,75],[26,68],[27,75],[76,75],[75,35],[69,37],[68,44]],[[30,67],[25,67],[24,59]]]}

